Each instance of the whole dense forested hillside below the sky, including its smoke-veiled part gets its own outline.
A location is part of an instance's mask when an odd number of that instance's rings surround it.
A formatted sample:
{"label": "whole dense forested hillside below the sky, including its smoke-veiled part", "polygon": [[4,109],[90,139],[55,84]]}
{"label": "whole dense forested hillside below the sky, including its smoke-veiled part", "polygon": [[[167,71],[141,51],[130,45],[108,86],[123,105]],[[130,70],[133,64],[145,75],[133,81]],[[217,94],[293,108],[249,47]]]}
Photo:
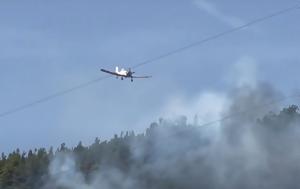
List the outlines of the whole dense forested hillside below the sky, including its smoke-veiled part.
{"label": "whole dense forested hillside below the sky, including its smoke-veiled part", "polygon": [[160,119],[142,134],[1,155],[1,189],[299,188],[297,106],[199,127]]}

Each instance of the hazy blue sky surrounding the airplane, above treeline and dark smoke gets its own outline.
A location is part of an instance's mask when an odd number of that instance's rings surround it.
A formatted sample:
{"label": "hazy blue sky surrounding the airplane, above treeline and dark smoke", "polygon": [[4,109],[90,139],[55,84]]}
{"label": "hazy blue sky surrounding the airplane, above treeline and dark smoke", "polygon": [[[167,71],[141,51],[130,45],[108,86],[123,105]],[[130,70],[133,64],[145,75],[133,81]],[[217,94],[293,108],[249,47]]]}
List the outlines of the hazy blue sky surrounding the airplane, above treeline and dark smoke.
{"label": "hazy blue sky surrounding the airplane, above treeline and dark smoke", "polygon": [[[101,77],[100,68],[130,67],[295,3],[1,1],[0,111]],[[300,82],[299,18],[300,11],[293,11],[136,70],[152,79],[109,78],[0,118],[0,151],[141,132],[176,108],[175,113],[199,113],[189,108],[199,96],[243,81],[267,81],[290,94]]]}

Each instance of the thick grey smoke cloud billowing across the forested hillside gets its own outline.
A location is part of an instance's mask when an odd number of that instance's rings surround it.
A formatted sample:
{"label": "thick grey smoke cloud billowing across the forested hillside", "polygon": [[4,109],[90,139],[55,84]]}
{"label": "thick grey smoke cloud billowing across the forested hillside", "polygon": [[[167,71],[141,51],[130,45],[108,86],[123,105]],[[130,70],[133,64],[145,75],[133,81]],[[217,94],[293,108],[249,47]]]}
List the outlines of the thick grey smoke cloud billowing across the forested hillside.
{"label": "thick grey smoke cloud billowing across the forested hillside", "polygon": [[57,155],[44,189],[299,188],[300,119],[270,113],[279,110],[272,99],[281,97],[267,84],[231,91],[222,112],[231,116],[218,132],[214,125],[188,124],[185,117],[161,119],[130,140],[126,169],[104,161],[85,178],[76,157]]}

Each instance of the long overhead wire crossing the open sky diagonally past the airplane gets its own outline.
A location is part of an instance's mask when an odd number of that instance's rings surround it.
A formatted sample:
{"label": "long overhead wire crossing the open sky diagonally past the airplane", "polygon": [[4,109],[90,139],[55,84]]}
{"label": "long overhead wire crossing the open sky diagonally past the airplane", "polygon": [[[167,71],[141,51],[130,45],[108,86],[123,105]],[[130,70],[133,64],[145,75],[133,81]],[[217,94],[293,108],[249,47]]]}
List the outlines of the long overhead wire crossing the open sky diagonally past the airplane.
{"label": "long overhead wire crossing the open sky diagonally past the airplane", "polygon": [[[163,58],[166,58],[168,56],[172,56],[174,54],[177,54],[179,52],[182,52],[182,51],[186,51],[190,48],[194,48],[196,46],[199,46],[199,45],[202,45],[206,42],[209,42],[209,41],[212,41],[212,40],[215,40],[215,39],[218,39],[218,38],[221,38],[225,35],[228,35],[230,33],[234,33],[236,31],[239,31],[239,30],[242,30],[244,28],[247,28],[249,26],[252,26],[252,25],[255,25],[257,23],[260,23],[260,22],[263,22],[263,21],[266,21],[268,19],[271,19],[275,16],[280,16],[280,15],[283,15],[283,14],[286,14],[288,12],[291,12],[293,10],[296,10],[296,9],[299,9],[300,8],[300,5],[296,5],[296,6],[293,6],[293,7],[289,7],[289,8],[285,8],[285,9],[282,9],[280,11],[277,11],[277,12],[274,12],[272,14],[269,14],[269,15],[266,15],[264,17],[260,17],[260,18],[257,18],[255,20],[252,20],[246,24],[243,24],[241,26],[238,26],[238,27],[235,27],[235,28],[232,28],[230,30],[227,30],[227,31],[224,31],[224,32],[221,32],[221,33],[218,33],[218,34],[215,34],[215,35],[212,35],[212,36],[209,36],[207,38],[204,38],[200,41],[197,41],[197,42],[194,42],[194,43],[191,43],[189,45],[186,45],[184,47],[181,47],[181,48],[177,48],[177,49],[174,49],[172,51],[169,51],[167,53],[164,53],[164,54],[161,54],[157,57],[154,57],[154,58],[151,58],[151,59],[148,59],[148,60],[145,60],[145,61],[142,61],[136,65],[133,65],[131,68],[135,69],[135,68],[138,68],[138,67],[141,67],[141,66],[144,66],[146,64],[150,64],[150,63],[153,63],[155,61],[158,61],[160,59],[163,59]],[[84,82],[84,83],[81,83],[79,85],[76,85],[74,87],[71,87],[71,88],[68,88],[68,89],[65,89],[65,90],[62,90],[62,91],[59,91],[59,92],[56,92],[54,94],[51,94],[51,95],[48,95],[46,97],[43,97],[43,98],[40,98],[38,100],[35,100],[35,101],[32,101],[30,103],[27,103],[27,104],[23,104],[21,106],[18,106],[18,107],[15,107],[15,108],[12,108],[10,110],[7,110],[7,111],[4,111],[4,112],[1,112],[0,113],[0,118],[2,117],[5,117],[5,116],[8,116],[8,115],[11,115],[11,114],[14,114],[14,113],[17,113],[19,111],[22,111],[22,110],[25,110],[25,109],[28,109],[28,108],[31,108],[35,105],[38,105],[38,104],[41,104],[41,103],[44,103],[44,102],[47,102],[47,101],[50,101],[52,99],[55,99],[59,96],[63,96],[63,95],[66,95],[66,94],[69,94],[71,92],[74,92],[76,90],[79,90],[79,89],[82,89],[82,88],[85,88],[87,86],[90,86],[92,84],[96,84],[104,79],[107,79],[111,76],[105,76],[105,77],[99,77],[99,78],[96,78],[96,79],[93,79],[93,80],[90,80],[90,81],[87,81],[87,82]]]}

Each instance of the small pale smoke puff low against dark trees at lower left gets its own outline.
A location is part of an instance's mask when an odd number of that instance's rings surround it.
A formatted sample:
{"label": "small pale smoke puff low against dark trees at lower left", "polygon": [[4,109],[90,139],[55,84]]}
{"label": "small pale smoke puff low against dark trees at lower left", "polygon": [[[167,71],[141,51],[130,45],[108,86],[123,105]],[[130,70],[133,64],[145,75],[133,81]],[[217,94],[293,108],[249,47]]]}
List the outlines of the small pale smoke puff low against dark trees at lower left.
{"label": "small pale smoke puff low against dark trees at lower left", "polygon": [[43,189],[130,189],[135,186],[129,175],[112,167],[94,172],[90,181],[87,181],[79,170],[75,155],[71,153],[56,155],[49,166],[49,175],[50,180]]}

